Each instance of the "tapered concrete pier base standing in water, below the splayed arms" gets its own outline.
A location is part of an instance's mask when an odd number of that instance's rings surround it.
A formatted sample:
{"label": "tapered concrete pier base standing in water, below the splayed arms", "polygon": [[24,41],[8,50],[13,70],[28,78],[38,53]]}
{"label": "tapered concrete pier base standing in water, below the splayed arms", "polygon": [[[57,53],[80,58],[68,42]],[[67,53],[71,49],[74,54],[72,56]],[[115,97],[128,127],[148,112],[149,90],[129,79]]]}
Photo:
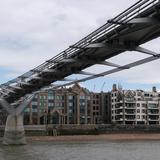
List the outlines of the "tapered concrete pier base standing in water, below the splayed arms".
{"label": "tapered concrete pier base standing in water, below the splayed arms", "polygon": [[23,114],[8,115],[5,133],[3,138],[5,145],[26,144],[25,131],[23,126]]}

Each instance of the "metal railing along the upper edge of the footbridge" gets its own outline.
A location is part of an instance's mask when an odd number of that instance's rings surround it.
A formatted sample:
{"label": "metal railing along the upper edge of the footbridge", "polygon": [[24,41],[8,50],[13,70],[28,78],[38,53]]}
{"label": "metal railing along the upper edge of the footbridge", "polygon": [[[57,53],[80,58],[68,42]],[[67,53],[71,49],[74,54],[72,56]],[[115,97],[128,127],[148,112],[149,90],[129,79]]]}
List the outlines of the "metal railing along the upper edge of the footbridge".
{"label": "metal railing along the upper edge of the footbridge", "polygon": [[[117,23],[106,23],[88,36],[84,37],[77,43],[73,45],[73,47],[67,48],[60,54],[56,55],[55,57],[49,59],[48,61],[42,63],[41,65],[37,66],[36,68],[30,70],[29,72],[24,73],[23,75],[8,81],[7,83],[4,83],[1,85],[1,88],[3,90],[3,87],[9,87],[9,85],[17,84],[19,81],[30,81],[33,76],[39,75],[40,72],[42,72],[44,69],[49,68],[56,68],[57,64],[62,61],[63,59],[70,58],[78,52],[81,51],[81,49],[86,48],[89,44],[99,42],[104,36],[107,37],[111,32],[116,31],[119,27],[123,27],[123,23],[127,23],[133,18],[141,15],[144,11],[146,11],[149,8],[155,7],[160,2],[159,0],[140,0],[137,3],[135,3],[133,6],[129,7],[127,10],[116,16],[112,19],[113,22]],[[114,33],[116,36],[116,32]],[[38,72],[37,72],[38,71]]]}

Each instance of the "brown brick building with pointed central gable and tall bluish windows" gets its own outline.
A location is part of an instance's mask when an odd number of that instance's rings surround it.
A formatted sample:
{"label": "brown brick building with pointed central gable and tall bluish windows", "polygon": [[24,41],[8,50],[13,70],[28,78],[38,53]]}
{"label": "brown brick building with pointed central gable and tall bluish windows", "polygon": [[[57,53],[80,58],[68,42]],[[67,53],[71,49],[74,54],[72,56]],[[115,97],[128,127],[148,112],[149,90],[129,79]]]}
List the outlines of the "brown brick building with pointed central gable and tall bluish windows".
{"label": "brown brick building with pointed central gable and tall bluish windows", "polygon": [[75,84],[40,92],[24,111],[24,124],[90,124],[90,92]]}

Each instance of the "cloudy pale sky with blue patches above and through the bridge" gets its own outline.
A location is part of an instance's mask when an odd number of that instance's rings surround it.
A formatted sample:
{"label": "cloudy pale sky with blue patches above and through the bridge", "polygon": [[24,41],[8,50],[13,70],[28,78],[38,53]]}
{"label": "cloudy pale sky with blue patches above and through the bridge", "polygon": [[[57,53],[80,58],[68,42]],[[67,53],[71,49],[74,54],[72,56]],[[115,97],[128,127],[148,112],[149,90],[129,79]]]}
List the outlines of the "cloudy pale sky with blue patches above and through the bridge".
{"label": "cloudy pale sky with blue patches above and through the bridge", "polygon": [[[0,83],[32,69],[68,48],[137,0],[4,0],[0,1]],[[159,39],[143,46],[159,51]],[[125,55],[125,56],[124,56]],[[110,61],[123,64],[146,57],[125,52]],[[125,88],[160,88],[160,60],[82,85],[100,91],[121,83]],[[87,69],[98,73],[107,66]]]}

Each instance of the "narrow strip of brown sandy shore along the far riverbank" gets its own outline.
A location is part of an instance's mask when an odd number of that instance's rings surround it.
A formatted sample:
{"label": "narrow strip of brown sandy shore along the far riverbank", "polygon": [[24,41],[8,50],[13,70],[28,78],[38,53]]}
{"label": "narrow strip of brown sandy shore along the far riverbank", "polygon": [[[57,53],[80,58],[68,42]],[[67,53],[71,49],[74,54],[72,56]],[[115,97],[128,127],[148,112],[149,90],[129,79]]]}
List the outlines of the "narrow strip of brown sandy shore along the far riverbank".
{"label": "narrow strip of brown sandy shore along the far riverbank", "polygon": [[73,136],[31,136],[27,141],[36,142],[72,142],[72,141],[135,141],[135,140],[158,140],[160,134],[102,134],[102,135],[73,135]]}

